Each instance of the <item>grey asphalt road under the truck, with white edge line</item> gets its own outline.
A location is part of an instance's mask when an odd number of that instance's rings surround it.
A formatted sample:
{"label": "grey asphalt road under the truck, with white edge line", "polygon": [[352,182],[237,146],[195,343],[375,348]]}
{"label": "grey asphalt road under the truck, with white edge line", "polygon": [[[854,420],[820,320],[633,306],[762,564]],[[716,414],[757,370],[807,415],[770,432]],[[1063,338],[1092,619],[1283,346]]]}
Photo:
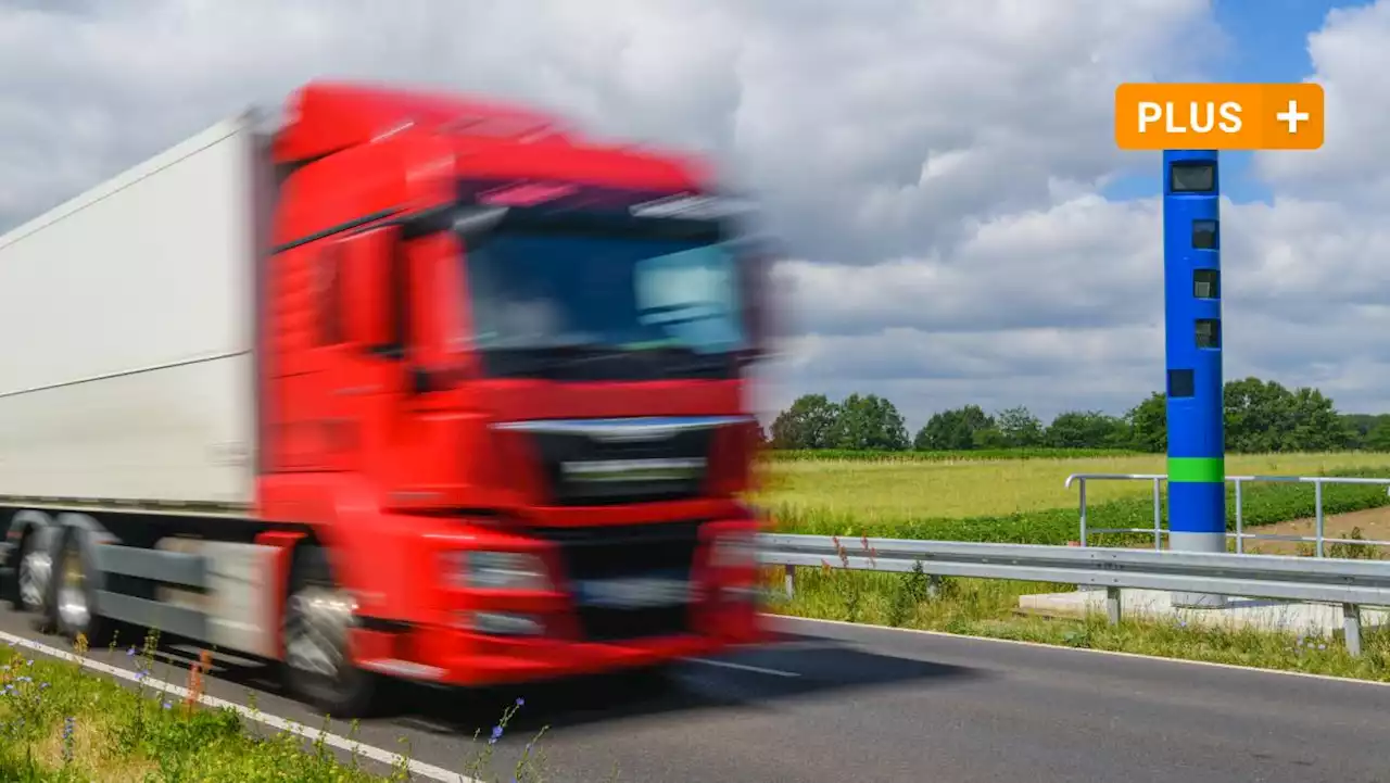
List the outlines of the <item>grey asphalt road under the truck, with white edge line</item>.
{"label": "grey asphalt road under the truck, with white edge line", "polygon": [[[623,679],[506,693],[411,690],[357,737],[461,769],[516,697],[499,769],[542,726],[560,783],[1359,783],[1390,780],[1390,687],[1180,662],[778,620],[781,641]],[[53,644],[0,611],[0,630]],[[167,651],[183,681],[192,656]],[[110,654],[101,651],[99,658]],[[117,654],[108,662],[128,665]],[[177,666],[177,668],[175,668]],[[254,666],[207,691],[318,726]],[[334,729],[346,733],[346,727]]]}

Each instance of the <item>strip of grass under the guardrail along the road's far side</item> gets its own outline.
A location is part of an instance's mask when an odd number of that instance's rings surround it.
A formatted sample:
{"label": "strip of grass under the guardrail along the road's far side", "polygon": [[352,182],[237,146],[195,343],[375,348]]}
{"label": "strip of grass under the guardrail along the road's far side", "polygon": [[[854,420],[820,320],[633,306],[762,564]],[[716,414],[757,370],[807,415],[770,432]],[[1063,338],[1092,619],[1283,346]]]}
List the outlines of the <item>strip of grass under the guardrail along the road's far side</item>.
{"label": "strip of grass under the guardrail along the road's far side", "polygon": [[933,595],[929,577],[920,573],[798,569],[795,597],[787,601],[776,592],[781,577],[781,569],[767,574],[774,595],[767,611],[795,617],[1390,681],[1390,634],[1379,629],[1362,633],[1362,655],[1352,658],[1337,638],[1183,620],[1126,617],[1111,626],[1104,615],[1045,619],[1016,613],[1020,595],[1074,590],[1068,584],[944,577]]}

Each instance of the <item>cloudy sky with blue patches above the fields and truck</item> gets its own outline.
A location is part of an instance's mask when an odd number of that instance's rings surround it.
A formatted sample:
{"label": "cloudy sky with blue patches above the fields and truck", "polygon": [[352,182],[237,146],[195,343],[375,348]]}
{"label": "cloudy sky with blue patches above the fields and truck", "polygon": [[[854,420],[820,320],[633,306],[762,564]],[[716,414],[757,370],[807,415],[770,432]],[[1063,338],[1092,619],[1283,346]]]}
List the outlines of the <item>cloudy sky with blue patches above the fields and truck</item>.
{"label": "cloudy sky with blue patches above the fields and truck", "polygon": [[1225,371],[1390,412],[1387,71],[1390,0],[0,0],[0,229],[310,78],[505,96],[763,200],[764,413],[1122,414],[1163,384],[1162,253],[1115,86],[1316,81],[1323,149],[1223,153]]}

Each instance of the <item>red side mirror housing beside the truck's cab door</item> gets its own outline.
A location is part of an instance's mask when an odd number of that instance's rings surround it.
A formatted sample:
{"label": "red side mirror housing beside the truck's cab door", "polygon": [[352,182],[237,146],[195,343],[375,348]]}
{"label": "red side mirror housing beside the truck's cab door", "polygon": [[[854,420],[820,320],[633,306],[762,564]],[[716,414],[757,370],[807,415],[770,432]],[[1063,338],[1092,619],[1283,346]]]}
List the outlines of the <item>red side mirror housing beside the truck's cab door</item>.
{"label": "red side mirror housing beside the truck's cab door", "polygon": [[382,227],[338,241],[339,310],[348,342],[370,353],[399,357],[395,264],[402,263],[400,228]]}

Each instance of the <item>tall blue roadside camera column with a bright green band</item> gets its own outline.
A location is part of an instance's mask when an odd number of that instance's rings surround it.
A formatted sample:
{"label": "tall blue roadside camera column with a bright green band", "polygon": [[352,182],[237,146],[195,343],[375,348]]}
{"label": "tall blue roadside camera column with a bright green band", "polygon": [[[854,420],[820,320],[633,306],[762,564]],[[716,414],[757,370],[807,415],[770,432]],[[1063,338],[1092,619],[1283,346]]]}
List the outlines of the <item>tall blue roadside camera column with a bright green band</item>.
{"label": "tall blue roadside camera column with a bright green band", "polygon": [[[1220,220],[1215,150],[1163,152],[1169,548],[1226,551]],[[1220,606],[1220,595],[1175,594]]]}

